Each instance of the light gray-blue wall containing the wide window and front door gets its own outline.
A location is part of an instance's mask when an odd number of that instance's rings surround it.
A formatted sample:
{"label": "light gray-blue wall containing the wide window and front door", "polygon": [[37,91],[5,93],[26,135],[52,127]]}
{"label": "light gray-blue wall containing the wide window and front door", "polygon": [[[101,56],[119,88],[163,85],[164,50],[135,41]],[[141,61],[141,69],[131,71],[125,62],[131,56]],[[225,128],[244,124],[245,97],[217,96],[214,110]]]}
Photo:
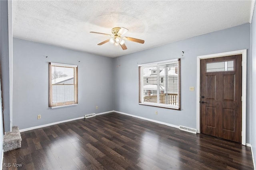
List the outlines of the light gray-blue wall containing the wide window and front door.
{"label": "light gray-blue wall containing the wide window and front door", "polygon": [[[196,128],[197,56],[241,49],[248,49],[247,56],[250,58],[250,24],[115,58],[113,72],[115,80],[114,110],[172,125]],[[176,58],[181,58],[181,111],[139,105],[138,64]],[[116,67],[119,63],[121,66]],[[190,86],[195,87],[194,92],[189,91]],[[247,93],[247,95],[250,98],[250,94]],[[158,111],[158,115],[155,115],[155,111]],[[246,141],[250,143],[250,113],[247,114],[246,129]]]}

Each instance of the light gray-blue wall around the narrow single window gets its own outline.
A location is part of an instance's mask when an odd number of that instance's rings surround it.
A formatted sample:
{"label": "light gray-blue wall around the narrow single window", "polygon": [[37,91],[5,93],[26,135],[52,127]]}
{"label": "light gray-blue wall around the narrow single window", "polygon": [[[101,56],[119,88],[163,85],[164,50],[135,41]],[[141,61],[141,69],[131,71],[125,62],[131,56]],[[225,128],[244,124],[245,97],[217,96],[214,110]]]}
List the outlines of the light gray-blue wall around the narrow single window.
{"label": "light gray-blue wall around the narrow single window", "polygon": [[[48,107],[49,62],[78,65],[77,106]],[[112,63],[109,57],[14,38],[13,125],[25,129],[113,110]]]}

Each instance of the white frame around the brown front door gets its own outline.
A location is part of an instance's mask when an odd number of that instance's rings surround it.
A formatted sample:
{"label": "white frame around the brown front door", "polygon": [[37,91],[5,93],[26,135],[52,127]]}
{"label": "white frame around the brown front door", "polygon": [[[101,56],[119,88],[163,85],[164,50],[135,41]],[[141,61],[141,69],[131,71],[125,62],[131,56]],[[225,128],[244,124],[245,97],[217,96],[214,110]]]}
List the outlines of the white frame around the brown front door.
{"label": "white frame around the brown front door", "polygon": [[196,98],[196,120],[197,132],[200,133],[200,60],[216,57],[224,57],[229,55],[242,54],[242,145],[246,145],[246,52],[247,50],[229,51],[225,53],[217,53],[210,55],[201,55],[197,57],[197,92]]}

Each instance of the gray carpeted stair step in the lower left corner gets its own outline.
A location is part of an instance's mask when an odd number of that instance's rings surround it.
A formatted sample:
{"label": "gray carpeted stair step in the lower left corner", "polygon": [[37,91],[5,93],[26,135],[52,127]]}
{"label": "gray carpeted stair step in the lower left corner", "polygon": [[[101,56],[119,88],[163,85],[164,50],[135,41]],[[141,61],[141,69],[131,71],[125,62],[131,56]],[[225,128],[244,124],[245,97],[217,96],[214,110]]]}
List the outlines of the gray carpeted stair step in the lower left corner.
{"label": "gray carpeted stair step in the lower left corner", "polygon": [[20,136],[20,129],[18,126],[12,127],[12,132],[6,132],[4,134],[4,145],[3,149],[4,152],[9,150],[18,149],[21,147],[21,136]]}

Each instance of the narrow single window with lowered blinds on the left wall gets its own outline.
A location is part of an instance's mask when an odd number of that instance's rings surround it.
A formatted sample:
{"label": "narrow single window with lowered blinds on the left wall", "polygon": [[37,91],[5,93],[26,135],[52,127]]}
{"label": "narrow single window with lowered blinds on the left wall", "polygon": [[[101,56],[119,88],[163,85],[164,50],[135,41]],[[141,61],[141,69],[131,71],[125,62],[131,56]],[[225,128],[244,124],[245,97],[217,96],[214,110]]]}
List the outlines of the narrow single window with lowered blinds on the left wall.
{"label": "narrow single window with lowered blinds on the left wall", "polygon": [[49,107],[77,103],[77,66],[49,63]]}

